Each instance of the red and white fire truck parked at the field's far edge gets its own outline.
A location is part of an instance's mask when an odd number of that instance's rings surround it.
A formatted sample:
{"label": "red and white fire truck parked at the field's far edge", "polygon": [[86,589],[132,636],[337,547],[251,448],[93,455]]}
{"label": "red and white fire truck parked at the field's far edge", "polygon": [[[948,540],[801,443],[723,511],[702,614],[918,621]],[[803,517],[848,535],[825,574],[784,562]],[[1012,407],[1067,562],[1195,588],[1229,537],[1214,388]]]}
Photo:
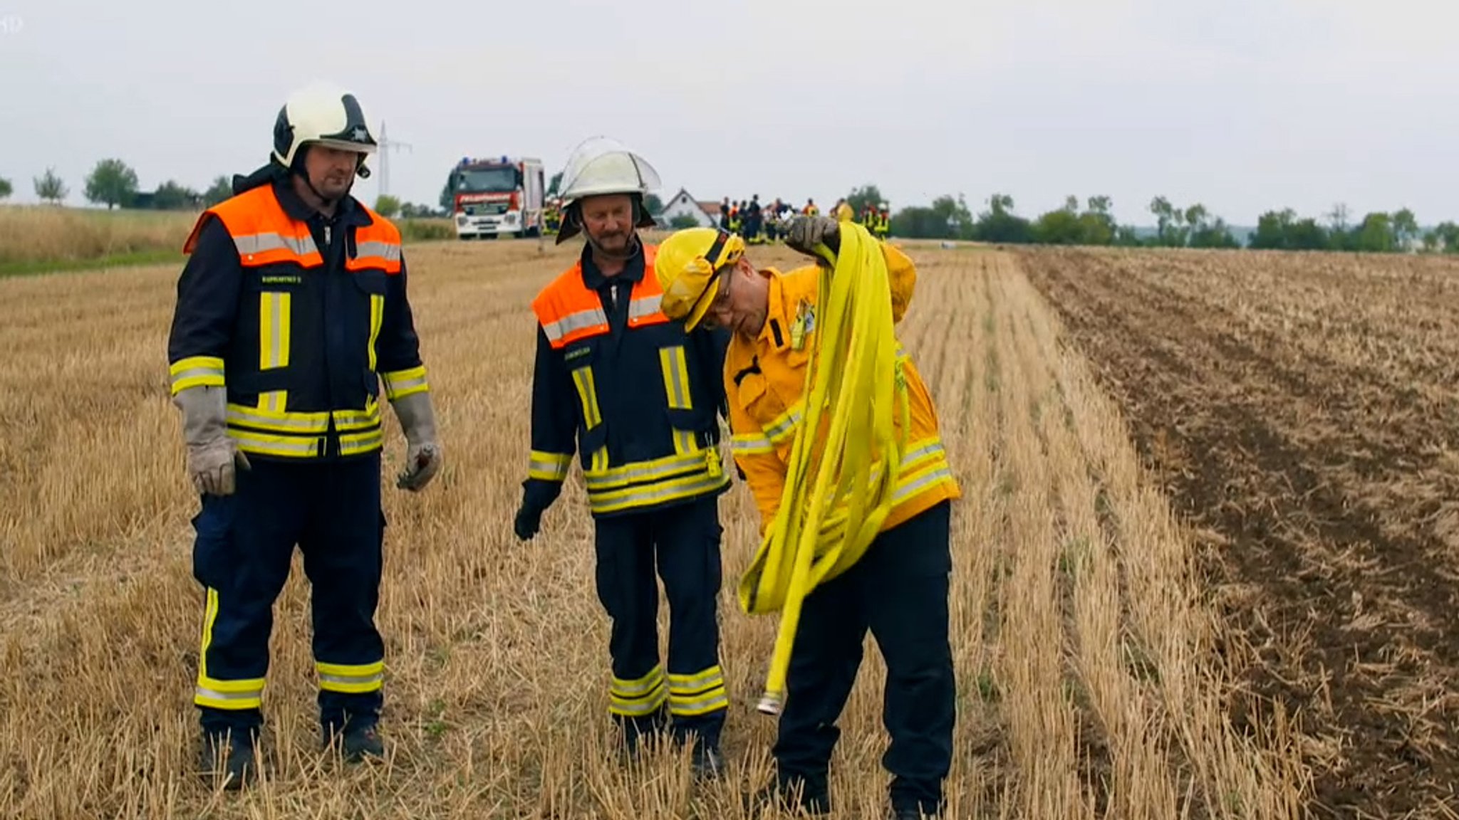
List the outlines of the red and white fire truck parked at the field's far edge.
{"label": "red and white fire truck parked at the field's far edge", "polygon": [[464,156],[451,169],[457,238],[537,236],[543,229],[543,162]]}

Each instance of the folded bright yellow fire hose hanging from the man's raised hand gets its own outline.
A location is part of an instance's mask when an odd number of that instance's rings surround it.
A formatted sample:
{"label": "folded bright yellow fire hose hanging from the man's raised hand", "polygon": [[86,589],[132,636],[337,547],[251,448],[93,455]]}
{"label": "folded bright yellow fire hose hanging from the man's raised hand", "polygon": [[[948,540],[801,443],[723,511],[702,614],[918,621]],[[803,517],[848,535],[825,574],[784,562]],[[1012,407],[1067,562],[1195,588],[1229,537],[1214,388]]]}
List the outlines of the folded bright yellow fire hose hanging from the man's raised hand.
{"label": "folded bright yellow fire hose hanging from the man's raised hand", "polygon": [[906,448],[894,403],[910,419],[881,245],[861,225],[842,222],[839,233],[839,254],[816,248],[823,263],[818,333],[781,506],[740,579],[747,614],[781,611],[759,703],[767,715],[785,702],[802,600],[856,563],[891,512]]}

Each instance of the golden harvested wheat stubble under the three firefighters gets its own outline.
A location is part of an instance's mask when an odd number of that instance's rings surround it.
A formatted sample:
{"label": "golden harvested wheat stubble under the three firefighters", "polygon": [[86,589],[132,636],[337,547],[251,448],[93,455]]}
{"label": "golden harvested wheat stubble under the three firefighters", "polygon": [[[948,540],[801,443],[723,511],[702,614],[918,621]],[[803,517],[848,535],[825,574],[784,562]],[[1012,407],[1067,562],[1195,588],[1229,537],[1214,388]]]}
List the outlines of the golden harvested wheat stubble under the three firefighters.
{"label": "golden harvested wheat stubble under the three firefighters", "polygon": [[[538,540],[511,534],[528,448],[527,305],[575,252],[407,250],[446,467],[419,496],[385,487],[392,757],[340,770],[318,754],[296,562],[266,695],[273,767],[241,795],[190,769],[201,598],[165,391],[177,271],[0,282],[0,816],[747,817],[741,792],[767,775],[775,728],[754,712],[775,622],[740,614],[730,584],[756,541],[747,490],[722,506],[731,767],[702,788],[683,756],[626,770],[613,754],[576,470]],[[1008,255],[912,252],[921,280],[902,337],[966,493],[948,816],[1296,817],[1291,738],[1224,722],[1231,673],[1212,646],[1226,641],[1191,544],[1058,317]],[[392,416],[387,433],[388,477],[403,454]],[[833,760],[843,817],[884,802],[883,680],[871,649]]]}

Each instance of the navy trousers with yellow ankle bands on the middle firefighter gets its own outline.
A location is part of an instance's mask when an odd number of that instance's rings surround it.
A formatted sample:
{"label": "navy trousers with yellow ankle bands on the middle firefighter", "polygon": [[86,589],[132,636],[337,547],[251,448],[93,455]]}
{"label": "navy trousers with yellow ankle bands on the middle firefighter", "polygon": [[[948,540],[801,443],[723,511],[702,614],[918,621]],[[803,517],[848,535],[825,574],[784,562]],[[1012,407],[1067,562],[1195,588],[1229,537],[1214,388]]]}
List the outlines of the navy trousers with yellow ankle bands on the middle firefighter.
{"label": "navy trousers with yellow ankle bands on the middle firefighter", "polygon": [[[673,732],[718,746],[730,699],[719,668],[718,498],[595,521],[597,589],[613,620],[608,712],[627,735]],[[655,566],[657,565],[657,566]],[[658,582],[668,600],[668,673],[658,655]]]}

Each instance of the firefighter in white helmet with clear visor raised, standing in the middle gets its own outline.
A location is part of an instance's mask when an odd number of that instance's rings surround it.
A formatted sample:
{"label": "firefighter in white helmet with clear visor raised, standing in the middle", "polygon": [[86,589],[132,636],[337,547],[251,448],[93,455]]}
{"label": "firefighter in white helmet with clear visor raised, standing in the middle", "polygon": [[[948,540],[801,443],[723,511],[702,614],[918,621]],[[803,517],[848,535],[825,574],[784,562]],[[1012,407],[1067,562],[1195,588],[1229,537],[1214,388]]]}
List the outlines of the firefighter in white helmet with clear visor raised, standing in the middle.
{"label": "firefighter in white helmet with clear visor raised, standing in the middle", "polygon": [[[584,250],[533,301],[531,454],[515,531],[538,533],[576,454],[598,598],[611,619],[608,712],[630,754],[671,727],[692,744],[696,773],[716,776],[730,705],[716,611],[728,336],[686,333],[658,309],[657,247],[638,235],[654,225],[643,197],[657,185],[654,168],[611,139],[591,139],[568,159],[557,242],[581,232]],[[667,664],[655,573],[670,607]]]}

